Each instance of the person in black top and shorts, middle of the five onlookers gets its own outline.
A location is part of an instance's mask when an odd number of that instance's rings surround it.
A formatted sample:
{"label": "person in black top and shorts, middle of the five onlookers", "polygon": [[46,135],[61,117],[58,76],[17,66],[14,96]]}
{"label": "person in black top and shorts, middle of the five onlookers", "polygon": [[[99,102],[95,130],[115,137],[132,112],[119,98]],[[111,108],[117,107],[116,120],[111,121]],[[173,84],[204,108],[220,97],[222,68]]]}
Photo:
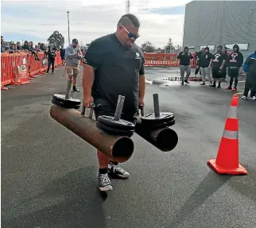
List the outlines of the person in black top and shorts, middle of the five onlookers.
{"label": "person in black top and shorts, middle of the five onlookers", "polygon": [[216,87],[216,81],[218,80],[219,84],[217,88],[220,88],[221,80],[223,79],[223,72],[226,70],[224,68],[226,62],[226,55],[223,53],[223,46],[219,45],[217,48],[217,52],[213,55],[211,62],[209,64],[209,68],[212,65],[212,79],[213,84],[211,87]]}

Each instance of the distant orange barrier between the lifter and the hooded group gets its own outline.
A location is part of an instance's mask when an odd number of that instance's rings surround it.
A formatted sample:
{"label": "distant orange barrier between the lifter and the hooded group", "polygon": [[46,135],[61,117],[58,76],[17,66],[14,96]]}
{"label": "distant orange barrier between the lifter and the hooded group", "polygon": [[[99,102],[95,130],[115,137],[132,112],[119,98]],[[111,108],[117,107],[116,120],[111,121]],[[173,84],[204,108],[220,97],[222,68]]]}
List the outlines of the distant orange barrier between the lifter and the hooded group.
{"label": "distant orange barrier between the lifter and the hooded group", "polygon": [[[144,52],[145,66],[148,67],[178,67],[180,60],[177,59],[177,54],[168,53],[146,53]],[[196,67],[196,60],[191,60],[191,67]]]}

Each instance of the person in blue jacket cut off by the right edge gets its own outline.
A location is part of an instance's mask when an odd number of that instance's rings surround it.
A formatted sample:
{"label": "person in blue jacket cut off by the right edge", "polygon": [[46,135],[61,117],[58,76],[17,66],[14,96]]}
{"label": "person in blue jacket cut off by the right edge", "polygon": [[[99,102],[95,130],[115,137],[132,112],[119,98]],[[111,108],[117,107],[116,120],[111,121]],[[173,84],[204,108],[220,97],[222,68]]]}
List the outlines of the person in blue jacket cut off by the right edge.
{"label": "person in blue jacket cut off by the right edge", "polygon": [[246,83],[242,99],[247,99],[250,91],[250,99],[256,100],[256,50],[246,59],[243,70],[246,72]]}

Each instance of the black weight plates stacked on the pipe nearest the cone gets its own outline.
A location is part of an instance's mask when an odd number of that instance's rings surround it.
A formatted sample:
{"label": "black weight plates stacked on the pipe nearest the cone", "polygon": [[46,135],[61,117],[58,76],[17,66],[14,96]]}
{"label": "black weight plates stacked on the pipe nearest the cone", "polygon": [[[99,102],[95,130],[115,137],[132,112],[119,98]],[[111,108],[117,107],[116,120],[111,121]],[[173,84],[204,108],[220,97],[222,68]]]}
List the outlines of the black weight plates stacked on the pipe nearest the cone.
{"label": "black weight plates stacked on the pipe nearest the cone", "polygon": [[160,117],[155,117],[155,114],[145,114],[142,116],[142,124],[148,123],[152,125],[160,124],[163,122],[170,122],[174,119],[174,114],[170,112],[160,113]]}

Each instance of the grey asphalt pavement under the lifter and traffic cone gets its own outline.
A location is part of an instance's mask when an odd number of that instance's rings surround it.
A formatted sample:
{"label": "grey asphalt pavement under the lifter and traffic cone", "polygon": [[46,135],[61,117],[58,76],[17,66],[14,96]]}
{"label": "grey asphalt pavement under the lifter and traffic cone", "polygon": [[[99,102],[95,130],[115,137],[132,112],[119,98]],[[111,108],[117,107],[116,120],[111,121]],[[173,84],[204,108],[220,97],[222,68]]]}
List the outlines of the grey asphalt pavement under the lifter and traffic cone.
{"label": "grey asphalt pavement under the lifter and traffic cone", "polygon": [[[2,227],[256,226],[256,102],[239,99],[239,161],[248,175],[220,176],[207,160],[216,157],[232,92],[200,82],[148,84],[145,112],[158,93],[161,111],[176,116],[178,145],[164,153],[134,134],[134,155],[122,164],[130,179],[112,180],[103,195],[95,149],[49,115],[52,94],[65,93],[63,71],[1,93]],[[149,80],[172,71],[146,68]]]}

